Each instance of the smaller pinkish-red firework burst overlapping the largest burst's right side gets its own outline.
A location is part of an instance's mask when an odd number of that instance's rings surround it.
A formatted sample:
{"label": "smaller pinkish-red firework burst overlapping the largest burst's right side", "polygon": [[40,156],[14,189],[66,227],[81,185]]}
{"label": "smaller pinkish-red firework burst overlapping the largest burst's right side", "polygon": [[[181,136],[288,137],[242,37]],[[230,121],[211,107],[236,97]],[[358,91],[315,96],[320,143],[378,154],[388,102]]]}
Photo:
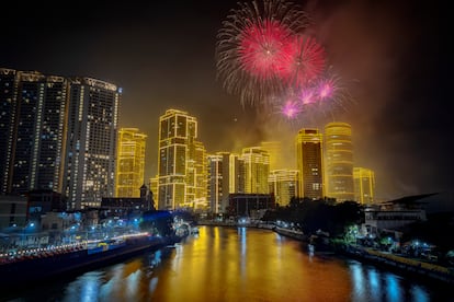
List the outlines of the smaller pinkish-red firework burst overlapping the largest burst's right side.
{"label": "smaller pinkish-red firework burst overlapping the largest burst's right side", "polygon": [[287,45],[283,65],[285,80],[291,84],[307,85],[325,70],[325,49],[310,36],[298,35]]}

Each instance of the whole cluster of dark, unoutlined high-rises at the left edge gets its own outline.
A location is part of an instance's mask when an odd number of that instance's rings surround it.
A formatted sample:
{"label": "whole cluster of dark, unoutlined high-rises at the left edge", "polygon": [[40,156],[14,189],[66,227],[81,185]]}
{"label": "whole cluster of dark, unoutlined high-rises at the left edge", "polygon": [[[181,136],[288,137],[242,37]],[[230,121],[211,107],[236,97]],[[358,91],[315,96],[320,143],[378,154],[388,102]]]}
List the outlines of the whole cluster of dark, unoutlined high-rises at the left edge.
{"label": "whole cluster of dark, unoutlined high-rises at the left edge", "polygon": [[70,209],[112,197],[121,89],[0,68],[0,194],[44,189]]}

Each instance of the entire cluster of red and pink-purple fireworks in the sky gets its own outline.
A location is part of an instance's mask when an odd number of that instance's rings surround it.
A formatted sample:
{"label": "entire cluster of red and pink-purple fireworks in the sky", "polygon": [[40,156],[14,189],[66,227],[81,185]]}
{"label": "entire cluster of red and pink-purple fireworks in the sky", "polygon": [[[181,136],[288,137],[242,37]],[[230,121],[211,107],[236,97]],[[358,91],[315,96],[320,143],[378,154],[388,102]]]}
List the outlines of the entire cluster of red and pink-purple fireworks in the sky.
{"label": "entire cluster of red and pink-purple fireworks in the sky", "polygon": [[325,48],[306,33],[310,20],[292,2],[238,3],[216,44],[217,78],[230,94],[286,120],[328,112],[347,97],[327,69]]}

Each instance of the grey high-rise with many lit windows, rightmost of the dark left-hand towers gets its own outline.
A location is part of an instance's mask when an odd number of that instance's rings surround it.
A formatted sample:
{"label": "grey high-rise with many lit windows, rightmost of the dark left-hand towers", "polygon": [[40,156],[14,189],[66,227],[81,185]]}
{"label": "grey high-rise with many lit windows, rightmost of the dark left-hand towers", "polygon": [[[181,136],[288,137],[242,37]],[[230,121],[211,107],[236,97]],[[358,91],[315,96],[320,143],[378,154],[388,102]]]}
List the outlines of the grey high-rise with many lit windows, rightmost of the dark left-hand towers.
{"label": "grey high-rise with many lit windows, rightmost of the dark left-hand towers", "polygon": [[72,209],[114,196],[120,96],[114,84],[71,79],[64,189]]}

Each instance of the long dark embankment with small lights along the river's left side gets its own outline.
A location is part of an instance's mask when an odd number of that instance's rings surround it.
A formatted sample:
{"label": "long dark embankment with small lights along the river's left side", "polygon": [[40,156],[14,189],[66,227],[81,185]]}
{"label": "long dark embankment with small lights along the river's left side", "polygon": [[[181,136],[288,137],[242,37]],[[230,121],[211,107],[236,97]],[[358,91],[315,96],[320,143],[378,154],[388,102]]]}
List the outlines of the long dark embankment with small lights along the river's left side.
{"label": "long dark embankment with small lights along the river's left side", "polygon": [[0,263],[0,289],[23,287],[63,275],[81,274],[126,260],[146,251],[156,251],[171,239],[148,234],[121,236],[67,246],[65,249],[14,255]]}

